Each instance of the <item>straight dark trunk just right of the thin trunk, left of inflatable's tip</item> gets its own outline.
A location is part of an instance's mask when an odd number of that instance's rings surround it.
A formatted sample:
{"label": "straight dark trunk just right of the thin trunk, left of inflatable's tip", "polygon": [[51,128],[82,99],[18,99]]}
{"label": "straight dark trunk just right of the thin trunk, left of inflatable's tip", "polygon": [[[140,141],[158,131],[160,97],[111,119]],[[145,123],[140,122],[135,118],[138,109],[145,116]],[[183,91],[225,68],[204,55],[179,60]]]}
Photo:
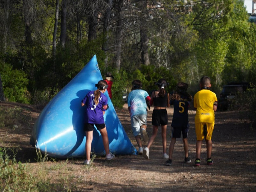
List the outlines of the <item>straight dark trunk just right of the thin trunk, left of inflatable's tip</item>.
{"label": "straight dark trunk just right of the thin trunk, left of inflatable's tip", "polygon": [[67,31],[67,0],[62,0],[60,43],[63,48],[65,47],[65,44],[66,44],[66,31]]}

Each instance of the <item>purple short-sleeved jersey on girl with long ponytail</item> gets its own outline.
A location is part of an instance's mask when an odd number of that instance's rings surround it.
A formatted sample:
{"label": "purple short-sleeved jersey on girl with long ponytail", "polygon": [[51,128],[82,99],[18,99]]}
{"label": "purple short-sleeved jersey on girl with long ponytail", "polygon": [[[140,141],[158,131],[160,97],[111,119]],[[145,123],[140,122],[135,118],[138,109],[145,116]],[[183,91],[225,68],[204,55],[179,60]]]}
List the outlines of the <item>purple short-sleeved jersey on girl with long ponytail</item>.
{"label": "purple short-sleeved jersey on girl with long ponytail", "polygon": [[86,114],[84,116],[84,123],[103,124],[103,105],[108,105],[108,98],[100,92],[99,103],[94,103],[94,91],[90,91],[82,100],[82,103],[86,105]]}

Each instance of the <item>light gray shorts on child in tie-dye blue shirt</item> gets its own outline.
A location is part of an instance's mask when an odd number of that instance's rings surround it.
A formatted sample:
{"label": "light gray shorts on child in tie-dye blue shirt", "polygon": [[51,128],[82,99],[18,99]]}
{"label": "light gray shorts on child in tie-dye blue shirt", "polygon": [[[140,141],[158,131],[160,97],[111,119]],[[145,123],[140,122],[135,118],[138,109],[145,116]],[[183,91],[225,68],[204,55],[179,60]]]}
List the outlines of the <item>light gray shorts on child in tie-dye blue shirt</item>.
{"label": "light gray shorts on child in tie-dye blue shirt", "polygon": [[140,127],[142,125],[147,125],[147,114],[134,115],[131,117],[131,128],[134,137],[140,135]]}

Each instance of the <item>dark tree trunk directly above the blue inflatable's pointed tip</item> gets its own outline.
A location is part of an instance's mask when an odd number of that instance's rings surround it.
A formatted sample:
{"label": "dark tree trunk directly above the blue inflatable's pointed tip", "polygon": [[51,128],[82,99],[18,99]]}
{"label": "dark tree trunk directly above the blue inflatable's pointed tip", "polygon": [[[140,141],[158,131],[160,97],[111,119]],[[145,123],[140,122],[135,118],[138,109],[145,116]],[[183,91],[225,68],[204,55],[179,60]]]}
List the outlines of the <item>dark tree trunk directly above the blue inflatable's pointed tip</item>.
{"label": "dark tree trunk directly above the blue inflatable's pointed tip", "polygon": [[88,29],[88,41],[96,39],[96,29],[98,24],[98,5],[96,4],[91,10],[92,14],[89,16],[89,29]]}

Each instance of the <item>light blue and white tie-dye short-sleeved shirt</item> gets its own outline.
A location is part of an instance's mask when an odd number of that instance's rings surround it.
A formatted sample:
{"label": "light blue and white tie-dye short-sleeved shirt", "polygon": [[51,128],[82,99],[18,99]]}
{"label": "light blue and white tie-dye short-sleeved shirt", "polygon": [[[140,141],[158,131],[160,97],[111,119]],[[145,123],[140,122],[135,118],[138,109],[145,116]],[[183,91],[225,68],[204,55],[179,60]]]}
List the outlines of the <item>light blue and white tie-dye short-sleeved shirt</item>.
{"label": "light blue and white tie-dye short-sleeved shirt", "polygon": [[132,90],[128,95],[128,107],[130,107],[130,116],[147,114],[146,97],[148,92],[142,89]]}

